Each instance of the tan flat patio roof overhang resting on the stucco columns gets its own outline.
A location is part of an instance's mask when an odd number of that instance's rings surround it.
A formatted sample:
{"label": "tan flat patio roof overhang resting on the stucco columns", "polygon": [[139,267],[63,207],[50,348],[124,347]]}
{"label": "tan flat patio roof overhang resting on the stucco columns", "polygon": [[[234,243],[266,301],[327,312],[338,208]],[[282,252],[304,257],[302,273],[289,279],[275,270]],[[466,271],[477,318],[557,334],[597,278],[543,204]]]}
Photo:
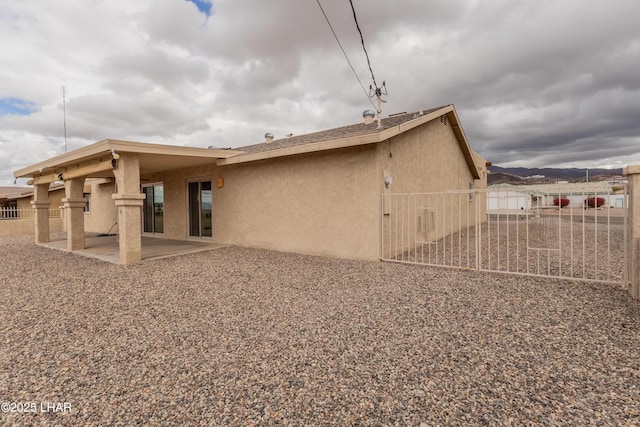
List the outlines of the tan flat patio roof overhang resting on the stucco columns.
{"label": "tan flat patio roof overhang resting on the stucco columns", "polygon": [[113,177],[112,169],[115,167],[112,160],[121,153],[137,154],[140,174],[147,175],[212,164],[218,159],[242,152],[105,139],[17,170],[13,175],[16,178],[32,178],[34,184],[59,181],[61,177],[109,178]]}

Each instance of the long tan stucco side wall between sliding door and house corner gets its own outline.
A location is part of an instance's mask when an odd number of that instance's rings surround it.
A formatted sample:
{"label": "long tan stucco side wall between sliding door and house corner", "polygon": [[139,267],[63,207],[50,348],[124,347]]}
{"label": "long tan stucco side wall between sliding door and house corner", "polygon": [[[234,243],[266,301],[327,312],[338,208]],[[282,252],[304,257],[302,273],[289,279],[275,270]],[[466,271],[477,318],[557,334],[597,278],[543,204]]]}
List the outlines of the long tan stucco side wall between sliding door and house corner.
{"label": "long tan stucco side wall between sliding door and house corner", "polygon": [[379,258],[375,146],[220,168],[215,240],[344,258]]}

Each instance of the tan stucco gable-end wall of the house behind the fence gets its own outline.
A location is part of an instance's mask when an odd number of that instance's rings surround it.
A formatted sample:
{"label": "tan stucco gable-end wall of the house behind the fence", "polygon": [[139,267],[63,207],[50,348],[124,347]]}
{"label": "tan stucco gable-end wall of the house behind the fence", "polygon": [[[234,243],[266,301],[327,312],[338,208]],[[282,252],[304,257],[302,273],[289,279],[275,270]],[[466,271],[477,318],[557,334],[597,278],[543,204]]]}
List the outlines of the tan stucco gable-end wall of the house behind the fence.
{"label": "tan stucco gable-end wall of the house behind the fence", "polygon": [[[474,179],[450,125],[440,120],[433,120],[379,144],[377,159],[382,194],[486,188],[484,165],[482,179]],[[383,184],[384,176],[392,177],[389,188]],[[467,194],[425,196],[420,200],[404,201],[399,197],[387,197],[385,203],[393,204],[383,208],[384,227],[380,227],[384,230],[384,241],[393,243],[386,245],[385,258],[414,248],[416,238],[432,241],[455,233],[474,223],[477,208],[486,209],[477,195],[470,198]],[[406,203],[406,208],[403,203]],[[398,238],[400,232],[402,236]],[[387,252],[390,249],[394,253]]]}

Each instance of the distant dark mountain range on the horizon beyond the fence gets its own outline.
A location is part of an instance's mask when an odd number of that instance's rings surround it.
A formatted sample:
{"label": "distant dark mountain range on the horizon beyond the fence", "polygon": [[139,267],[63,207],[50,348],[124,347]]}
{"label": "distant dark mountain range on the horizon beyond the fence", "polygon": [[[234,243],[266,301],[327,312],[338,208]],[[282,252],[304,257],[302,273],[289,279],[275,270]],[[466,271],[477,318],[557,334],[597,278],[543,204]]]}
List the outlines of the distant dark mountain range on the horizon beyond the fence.
{"label": "distant dark mountain range on the horizon beyond the fence", "polygon": [[530,182],[545,183],[558,180],[583,182],[602,181],[614,176],[622,175],[622,169],[579,169],[579,168],[502,168],[500,166],[489,166],[488,183],[491,184],[526,184]]}

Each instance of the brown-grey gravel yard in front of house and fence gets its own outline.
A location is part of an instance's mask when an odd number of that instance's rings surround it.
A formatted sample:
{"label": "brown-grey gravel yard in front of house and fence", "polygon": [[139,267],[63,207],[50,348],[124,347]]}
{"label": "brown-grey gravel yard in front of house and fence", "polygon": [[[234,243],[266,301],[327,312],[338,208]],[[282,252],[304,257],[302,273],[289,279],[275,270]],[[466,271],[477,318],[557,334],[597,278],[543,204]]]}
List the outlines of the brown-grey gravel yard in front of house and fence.
{"label": "brown-grey gravel yard in front of house and fence", "polygon": [[38,405],[0,425],[640,424],[640,306],[612,285],[0,245],[0,402]]}

